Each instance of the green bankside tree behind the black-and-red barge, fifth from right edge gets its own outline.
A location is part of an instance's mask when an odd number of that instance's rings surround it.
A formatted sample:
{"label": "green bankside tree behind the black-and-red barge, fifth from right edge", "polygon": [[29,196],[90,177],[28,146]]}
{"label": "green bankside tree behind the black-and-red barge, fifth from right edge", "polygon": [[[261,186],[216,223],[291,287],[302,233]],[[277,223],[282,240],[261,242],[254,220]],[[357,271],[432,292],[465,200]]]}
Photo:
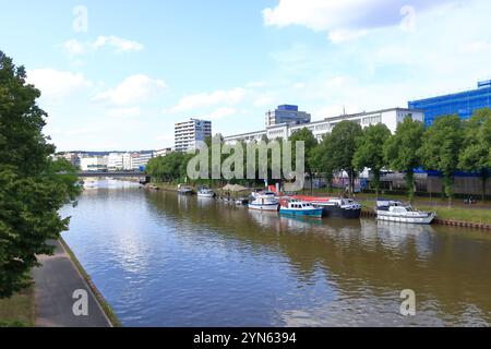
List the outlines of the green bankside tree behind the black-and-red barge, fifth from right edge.
{"label": "green bankside tree behind the black-and-red barge, fifth from right edge", "polygon": [[325,168],[333,171],[345,171],[349,178],[349,193],[355,192],[356,169],[352,165],[357,151],[358,140],[362,135],[359,123],[342,121],[336,124],[330,136],[325,137],[322,147],[325,153],[321,155]]}

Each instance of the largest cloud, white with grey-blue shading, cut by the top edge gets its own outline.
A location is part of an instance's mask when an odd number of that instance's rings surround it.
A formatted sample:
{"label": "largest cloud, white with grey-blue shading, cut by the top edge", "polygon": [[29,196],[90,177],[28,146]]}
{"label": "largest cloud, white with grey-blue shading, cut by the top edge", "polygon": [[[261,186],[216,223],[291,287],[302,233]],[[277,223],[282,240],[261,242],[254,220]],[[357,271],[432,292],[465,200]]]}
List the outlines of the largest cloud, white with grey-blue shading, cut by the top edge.
{"label": "largest cloud, white with grey-blue shading, cut by the top edge", "polygon": [[[263,10],[264,24],[286,27],[306,26],[315,32],[326,31],[334,43],[367,35],[369,29],[414,23],[419,11],[448,0],[279,0],[275,8]],[[402,9],[405,11],[402,12]]]}

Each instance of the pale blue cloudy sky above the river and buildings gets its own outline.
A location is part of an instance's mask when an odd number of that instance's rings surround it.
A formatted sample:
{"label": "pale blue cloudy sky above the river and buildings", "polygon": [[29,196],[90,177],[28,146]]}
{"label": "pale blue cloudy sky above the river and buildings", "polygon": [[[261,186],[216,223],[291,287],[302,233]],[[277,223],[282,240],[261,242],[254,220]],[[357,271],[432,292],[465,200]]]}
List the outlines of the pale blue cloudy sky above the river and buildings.
{"label": "pale blue cloudy sky above the river and buildings", "polygon": [[313,120],[491,79],[489,0],[0,0],[0,50],[41,91],[58,151],[231,135],[298,105]]}

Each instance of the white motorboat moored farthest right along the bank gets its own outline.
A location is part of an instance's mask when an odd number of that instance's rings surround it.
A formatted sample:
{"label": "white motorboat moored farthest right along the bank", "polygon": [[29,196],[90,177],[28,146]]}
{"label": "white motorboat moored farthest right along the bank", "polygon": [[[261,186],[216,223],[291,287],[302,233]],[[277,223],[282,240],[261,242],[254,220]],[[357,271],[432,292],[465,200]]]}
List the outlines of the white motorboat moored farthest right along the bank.
{"label": "white motorboat moored farthest right along the bank", "polygon": [[396,201],[378,201],[376,219],[385,221],[430,225],[436,214],[421,212]]}

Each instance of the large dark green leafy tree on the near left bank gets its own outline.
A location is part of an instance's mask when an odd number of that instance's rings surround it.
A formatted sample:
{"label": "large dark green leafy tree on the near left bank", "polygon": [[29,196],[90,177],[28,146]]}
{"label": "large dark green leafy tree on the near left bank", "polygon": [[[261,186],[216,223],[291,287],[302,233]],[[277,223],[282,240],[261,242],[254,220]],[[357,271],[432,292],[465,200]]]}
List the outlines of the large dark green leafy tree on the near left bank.
{"label": "large dark green leafy tree on the near left bank", "polygon": [[59,239],[70,221],[58,210],[80,193],[75,169],[51,157],[40,92],[25,77],[0,51],[0,298],[29,284],[36,255],[52,254],[47,240]]}

